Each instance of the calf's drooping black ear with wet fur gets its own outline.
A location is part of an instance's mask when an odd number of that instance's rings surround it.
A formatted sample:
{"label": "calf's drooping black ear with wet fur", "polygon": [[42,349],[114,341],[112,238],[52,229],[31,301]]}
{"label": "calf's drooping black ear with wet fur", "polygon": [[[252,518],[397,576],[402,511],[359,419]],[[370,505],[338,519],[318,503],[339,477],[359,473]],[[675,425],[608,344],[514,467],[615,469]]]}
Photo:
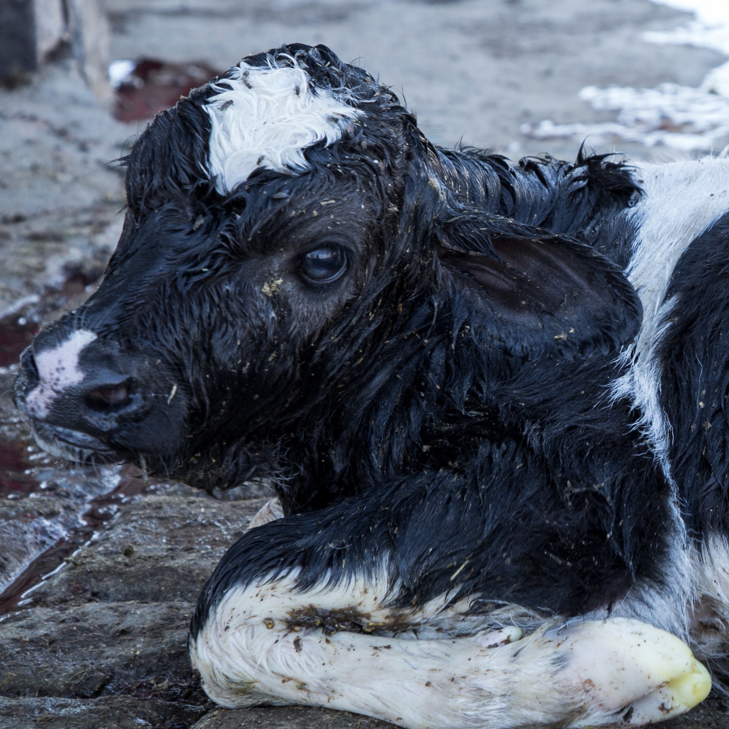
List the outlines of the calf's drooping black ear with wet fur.
{"label": "calf's drooping black ear with wet fur", "polygon": [[437,249],[454,305],[459,299],[469,308],[479,338],[509,354],[565,356],[608,354],[635,338],[638,295],[620,268],[590,246],[492,235],[484,247],[488,252]]}

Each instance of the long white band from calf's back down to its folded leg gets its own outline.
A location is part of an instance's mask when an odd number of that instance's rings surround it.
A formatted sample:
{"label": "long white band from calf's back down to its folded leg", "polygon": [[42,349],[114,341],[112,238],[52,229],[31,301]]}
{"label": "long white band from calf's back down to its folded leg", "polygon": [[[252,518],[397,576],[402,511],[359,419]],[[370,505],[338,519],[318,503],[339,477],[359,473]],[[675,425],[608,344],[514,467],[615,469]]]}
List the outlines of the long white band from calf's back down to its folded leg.
{"label": "long white band from calf's back down to its folded leg", "polygon": [[[663,362],[658,346],[671,327],[676,298],[666,292],[680,257],[701,233],[729,210],[729,160],[706,157],[689,162],[645,165],[634,174],[644,195],[628,211],[636,227],[631,260],[626,268],[643,305],[643,321],[635,343],[621,355],[628,371],[612,384],[614,397],[630,399],[639,416],[639,428],[671,480],[668,448],[671,425],[660,406]],[[666,581],[658,588],[641,585],[615,607],[614,615],[638,617],[679,636],[688,634],[684,606],[692,596],[693,565],[687,551],[685,523],[673,483],[671,550],[664,565]],[[666,525],[668,529],[670,525]]]}

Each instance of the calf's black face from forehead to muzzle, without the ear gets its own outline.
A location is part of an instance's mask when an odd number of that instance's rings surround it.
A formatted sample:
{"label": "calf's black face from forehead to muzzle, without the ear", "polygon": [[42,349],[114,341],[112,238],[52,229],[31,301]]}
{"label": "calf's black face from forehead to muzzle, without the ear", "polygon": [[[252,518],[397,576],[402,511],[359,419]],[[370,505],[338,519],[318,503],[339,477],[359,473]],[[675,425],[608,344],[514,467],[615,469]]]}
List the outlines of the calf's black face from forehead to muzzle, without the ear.
{"label": "calf's black face from forehead to muzzle, without the ear", "polygon": [[[343,311],[391,283],[408,115],[332,59],[246,59],[135,144],[101,287],[23,354],[16,401],[48,451],[219,479],[233,440],[336,376],[312,365],[332,327],[356,327]],[[347,85],[332,90],[335,71]],[[394,109],[389,136],[368,133],[357,99]]]}

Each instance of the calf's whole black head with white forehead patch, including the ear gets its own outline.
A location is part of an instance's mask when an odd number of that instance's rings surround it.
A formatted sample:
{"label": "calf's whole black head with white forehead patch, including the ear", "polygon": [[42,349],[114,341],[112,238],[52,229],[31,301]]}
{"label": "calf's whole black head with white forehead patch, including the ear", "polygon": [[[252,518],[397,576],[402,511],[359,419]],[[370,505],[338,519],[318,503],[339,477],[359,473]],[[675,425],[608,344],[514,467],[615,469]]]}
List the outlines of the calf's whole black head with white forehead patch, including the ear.
{"label": "calf's whole black head with white forehead patch, including the ear", "polygon": [[510,355],[631,335],[617,270],[484,217],[440,155],[325,47],[250,56],[157,116],[98,292],[23,354],[16,402],[39,443],[235,483],[305,413],[399,376],[454,299],[451,339],[477,309]]}

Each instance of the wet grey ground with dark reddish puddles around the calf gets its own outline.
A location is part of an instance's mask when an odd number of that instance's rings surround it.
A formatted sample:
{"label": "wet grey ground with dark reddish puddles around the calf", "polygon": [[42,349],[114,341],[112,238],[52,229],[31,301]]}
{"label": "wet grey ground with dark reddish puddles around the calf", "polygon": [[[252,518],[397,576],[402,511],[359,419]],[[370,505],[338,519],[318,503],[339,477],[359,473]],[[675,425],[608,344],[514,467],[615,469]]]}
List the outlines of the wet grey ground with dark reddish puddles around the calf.
{"label": "wet grey ground with dark reddish puddles around the calf", "polygon": [[[106,8],[112,57],[147,59],[113,109],[62,56],[27,85],[0,90],[0,726],[385,727],[317,709],[223,711],[200,693],[187,662],[192,606],[262,491],[224,502],[147,483],[129,467],[69,468],[37,451],[12,407],[20,351],[39,325],[90,294],[117,240],[123,191],[112,160],[200,69],[225,69],[280,42],[324,42],[359,58],[405,95],[437,143],[462,139],[513,157],[574,157],[578,140],[537,139],[543,120],[615,120],[580,97],[586,86],[698,87],[724,57],[645,42],[644,31],[690,19],[647,0],[106,0]],[[606,139],[603,151],[679,154],[637,137]],[[706,149],[727,143],[712,136]],[[714,697],[666,727],[727,728],[729,715]]]}

